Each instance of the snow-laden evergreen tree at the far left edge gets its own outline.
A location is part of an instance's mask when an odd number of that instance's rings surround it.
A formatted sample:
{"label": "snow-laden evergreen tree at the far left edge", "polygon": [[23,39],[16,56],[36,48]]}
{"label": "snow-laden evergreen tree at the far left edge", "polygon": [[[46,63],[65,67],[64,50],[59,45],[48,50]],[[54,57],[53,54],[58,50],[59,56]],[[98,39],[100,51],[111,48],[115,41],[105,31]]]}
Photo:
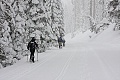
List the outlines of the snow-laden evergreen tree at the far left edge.
{"label": "snow-laden evergreen tree at the far left edge", "polygon": [[6,58],[5,62],[2,62],[2,65],[6,66],[7,64],[13,64],[14,56],[16,55],[16,52],[13,49],[12,44],[12,32],[14,31],[15,21],[14,16],[15,12],[11,6],[11,3],[13,1],[7,1],[7,0],[1,0],[0,1],[0,13],[1,13],[1,19],[0,19],[0,25],[2,25],[1,28],[1,38],[0,38],[0,44],[2,47],[2,55],[4,55]]}

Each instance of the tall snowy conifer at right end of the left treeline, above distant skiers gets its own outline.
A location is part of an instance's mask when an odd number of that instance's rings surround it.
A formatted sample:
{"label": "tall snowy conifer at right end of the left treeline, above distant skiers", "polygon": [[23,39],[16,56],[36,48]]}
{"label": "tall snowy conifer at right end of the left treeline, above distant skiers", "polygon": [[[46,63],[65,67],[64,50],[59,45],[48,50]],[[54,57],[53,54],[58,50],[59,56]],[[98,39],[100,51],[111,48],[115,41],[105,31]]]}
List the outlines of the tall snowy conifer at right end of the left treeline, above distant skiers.
{"label": "tall snowy conifer at right end of the left treeline, above distant skiers", "polygon": [[57,37],[64,34],[63,8],[59,0],[51,0],[51,28]]}

